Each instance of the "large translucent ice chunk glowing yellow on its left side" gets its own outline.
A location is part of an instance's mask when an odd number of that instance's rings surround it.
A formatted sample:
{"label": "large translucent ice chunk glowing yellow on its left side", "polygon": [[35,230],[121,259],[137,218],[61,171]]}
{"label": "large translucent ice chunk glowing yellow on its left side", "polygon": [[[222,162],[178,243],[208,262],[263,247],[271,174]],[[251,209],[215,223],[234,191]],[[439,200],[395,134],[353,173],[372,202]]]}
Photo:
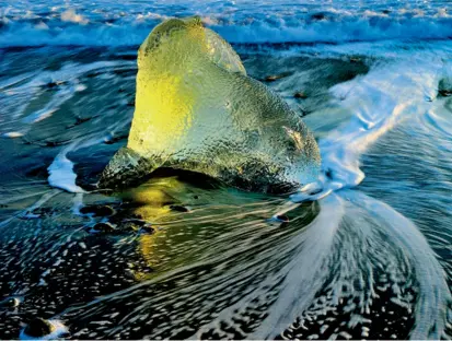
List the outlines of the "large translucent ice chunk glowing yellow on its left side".
{"label": "large translucent ice chunk glowing yellow on its left side", "polygon": [[315,181],[314,136],[281,97],[246,75],[232,47],[199,16],[153,28],[137,64],[127,149],[108,163],[100,187],[125,187],[159,167],[260,192]]}

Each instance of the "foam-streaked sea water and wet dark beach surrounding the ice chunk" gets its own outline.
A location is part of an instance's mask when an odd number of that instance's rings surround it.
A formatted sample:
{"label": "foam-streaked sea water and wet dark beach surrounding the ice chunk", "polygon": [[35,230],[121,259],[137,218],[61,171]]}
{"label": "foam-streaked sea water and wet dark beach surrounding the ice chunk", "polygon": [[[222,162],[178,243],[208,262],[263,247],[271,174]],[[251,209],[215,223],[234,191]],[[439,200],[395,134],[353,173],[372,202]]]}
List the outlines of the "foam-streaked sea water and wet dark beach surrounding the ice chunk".
{"label": "foam-streaked sea water and wet dark beach surrounding the ice chunk", "polygon": [[[139,45],[190,15],[302,117],[316,186],[97,188]],[[3,1],[0,339],[451,339],[451,118],[449,1]]]}

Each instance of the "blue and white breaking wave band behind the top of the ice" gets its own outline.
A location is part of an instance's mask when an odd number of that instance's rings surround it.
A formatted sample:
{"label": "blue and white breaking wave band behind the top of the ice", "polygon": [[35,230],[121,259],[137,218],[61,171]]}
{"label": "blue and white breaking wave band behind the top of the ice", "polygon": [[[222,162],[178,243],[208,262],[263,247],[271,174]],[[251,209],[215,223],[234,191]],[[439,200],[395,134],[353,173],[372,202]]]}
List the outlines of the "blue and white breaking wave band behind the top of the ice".
{"label": "blue and white breaking wave band behind the top of the ice", "polygon": [[201,14],[207,26],[232,43],[447,39],[452,36],[452,15],[447,4],[444,1],[429,5],[426,1],[397,11],[389,10],[384,2],[372,1],[368,8],[356,7],[352,1],[341,3],[340,10],[326,1],[292,5],[275,1],[260,7],[252,1],[125,1],[108,11],[91,9],[86,3],[83,13],[66,7],[55,7],[49,13],[38,3],[10,1],[0,12],[4,25],[0,46],[139,45],[169,15],[194,14]]}

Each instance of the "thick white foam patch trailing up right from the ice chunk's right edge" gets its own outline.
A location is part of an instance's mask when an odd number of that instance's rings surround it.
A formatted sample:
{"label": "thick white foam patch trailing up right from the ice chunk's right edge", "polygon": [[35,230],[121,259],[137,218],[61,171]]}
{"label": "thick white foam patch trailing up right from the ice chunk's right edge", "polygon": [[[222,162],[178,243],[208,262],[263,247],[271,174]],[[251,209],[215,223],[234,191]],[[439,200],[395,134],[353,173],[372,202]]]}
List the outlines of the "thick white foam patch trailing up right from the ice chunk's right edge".
{"label": "thick white foam patch trailing up right from the ice chunk's right edge", "polygon": [[310,188],[303,188],[291,200],[317,200],[333,190],[358,186],[364,179],[360,156],[369,146],[404,119],[432,117],[429,110],[442,67],[440,60],[403,59],[334,86],[332,93],[352,113],[351,119],[318,142],[323,174],[317,187],[323,191],[312,196]]}

